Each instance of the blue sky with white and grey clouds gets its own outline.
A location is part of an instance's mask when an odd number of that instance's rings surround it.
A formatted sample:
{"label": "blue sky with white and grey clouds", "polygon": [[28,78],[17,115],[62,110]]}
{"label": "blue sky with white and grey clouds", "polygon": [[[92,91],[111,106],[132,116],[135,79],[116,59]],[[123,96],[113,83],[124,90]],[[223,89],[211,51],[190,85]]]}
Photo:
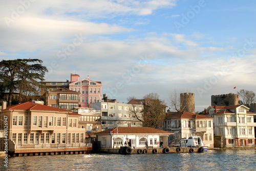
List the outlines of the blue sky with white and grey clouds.
{"label": "blue sky with white and grey clouds", "polygon": [[[0,0],[0,60],[40,59],[46,81],[78,74],[119,103],[154,92],[256,92],[256,1]],[[236,87],[236,89],[234,89]]]}

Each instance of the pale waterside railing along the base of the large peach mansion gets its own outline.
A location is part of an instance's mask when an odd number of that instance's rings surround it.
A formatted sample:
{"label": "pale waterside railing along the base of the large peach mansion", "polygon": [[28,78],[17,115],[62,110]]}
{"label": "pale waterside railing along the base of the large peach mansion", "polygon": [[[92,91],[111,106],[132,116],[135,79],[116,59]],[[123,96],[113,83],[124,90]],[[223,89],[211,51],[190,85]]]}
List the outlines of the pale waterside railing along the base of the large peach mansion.
{"label": "pale waterside railing along the base of the large peach mansion", "polygon": [[15,149],[57,149],[57,148],[72,148],[72,147],[91,147],[92,143],[72,143],[72,144],[23,144],[15,145]]}

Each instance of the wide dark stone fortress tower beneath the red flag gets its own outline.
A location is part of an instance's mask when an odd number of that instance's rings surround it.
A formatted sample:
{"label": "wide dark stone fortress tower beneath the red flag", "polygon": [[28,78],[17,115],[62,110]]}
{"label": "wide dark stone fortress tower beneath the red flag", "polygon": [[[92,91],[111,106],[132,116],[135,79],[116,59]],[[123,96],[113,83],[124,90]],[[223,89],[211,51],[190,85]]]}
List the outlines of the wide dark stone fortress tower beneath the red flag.
{"label": "wide dark stone fortress tower beneath the red flag", "polygon": [[221,94],[221,95],[211,95],[211,106],[233,106],[239,105],[239,95],[238,94]]}

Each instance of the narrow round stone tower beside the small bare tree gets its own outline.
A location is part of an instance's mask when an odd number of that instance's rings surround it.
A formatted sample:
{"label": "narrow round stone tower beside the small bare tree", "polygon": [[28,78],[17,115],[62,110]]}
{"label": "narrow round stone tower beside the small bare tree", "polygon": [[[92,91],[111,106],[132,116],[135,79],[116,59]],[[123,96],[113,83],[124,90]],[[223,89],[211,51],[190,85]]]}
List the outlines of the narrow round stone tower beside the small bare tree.
{"label": "narrow round stone tower beside the small bare tree", "polygon": [[195,113],[195,93],[180,93],[181,109],[185,106],[183,111]]}

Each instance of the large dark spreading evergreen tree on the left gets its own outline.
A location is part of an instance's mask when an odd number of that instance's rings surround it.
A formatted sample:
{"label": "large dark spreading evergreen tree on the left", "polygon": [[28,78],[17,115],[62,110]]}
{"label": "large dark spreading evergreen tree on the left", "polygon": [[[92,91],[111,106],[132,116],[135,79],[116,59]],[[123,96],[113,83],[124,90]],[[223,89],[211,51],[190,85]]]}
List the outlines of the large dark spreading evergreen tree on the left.
{"label": "large dark spreading evergreen tree on the left", "polygon": [[37,81],[44,81],[45,72],[48,72],[48,69],[41,63],[39,59],[15,59],[0,62],[0,86],[3,86],[3,90],[9,94],[8,106],[11,106],[12,95],[15,91],[21,95],[24,90],[38,86]]}

